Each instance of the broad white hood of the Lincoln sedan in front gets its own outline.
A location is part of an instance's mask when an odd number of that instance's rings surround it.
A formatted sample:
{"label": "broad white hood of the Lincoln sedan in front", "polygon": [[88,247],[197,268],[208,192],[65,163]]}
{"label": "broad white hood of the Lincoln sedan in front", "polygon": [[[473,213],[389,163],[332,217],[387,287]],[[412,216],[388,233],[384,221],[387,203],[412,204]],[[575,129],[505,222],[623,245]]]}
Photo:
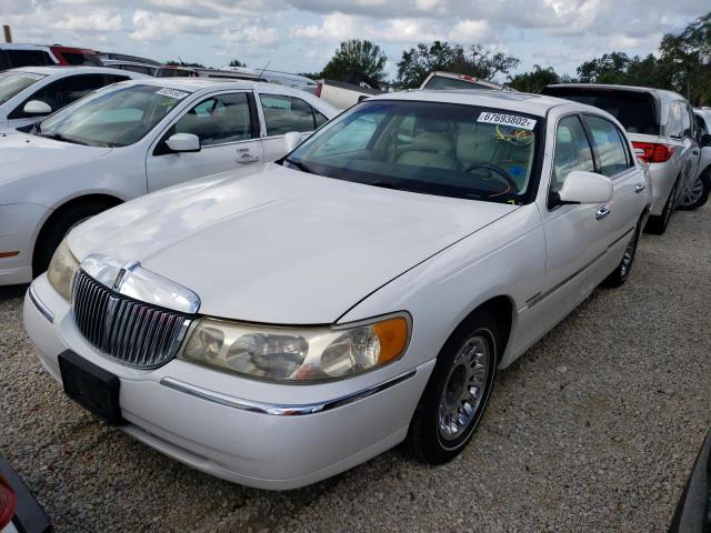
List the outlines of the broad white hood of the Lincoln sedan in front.
{"label": "broad white hood of the Lincoln sedan in front", "polygon": [[69,244],[80,261],[138,260],[196,292],[202,314],[323,324],[515,209],[272,164],[129,202],[77,228]]}

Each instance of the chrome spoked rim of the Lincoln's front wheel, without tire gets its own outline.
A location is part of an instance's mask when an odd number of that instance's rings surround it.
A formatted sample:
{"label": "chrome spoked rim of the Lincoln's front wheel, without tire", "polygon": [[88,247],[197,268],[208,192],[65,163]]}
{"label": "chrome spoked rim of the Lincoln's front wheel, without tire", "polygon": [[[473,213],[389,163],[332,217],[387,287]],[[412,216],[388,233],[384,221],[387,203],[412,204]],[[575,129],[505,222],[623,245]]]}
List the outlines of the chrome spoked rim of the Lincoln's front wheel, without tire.
{"label": "chrome spoked rim of the Lincoln's front wheel, without tire", "polygon": [[460,436],[474,420],[483,400],[490,354],[487,339],[474,335],[454,358],[438,413],[439,432],[445,441]]}

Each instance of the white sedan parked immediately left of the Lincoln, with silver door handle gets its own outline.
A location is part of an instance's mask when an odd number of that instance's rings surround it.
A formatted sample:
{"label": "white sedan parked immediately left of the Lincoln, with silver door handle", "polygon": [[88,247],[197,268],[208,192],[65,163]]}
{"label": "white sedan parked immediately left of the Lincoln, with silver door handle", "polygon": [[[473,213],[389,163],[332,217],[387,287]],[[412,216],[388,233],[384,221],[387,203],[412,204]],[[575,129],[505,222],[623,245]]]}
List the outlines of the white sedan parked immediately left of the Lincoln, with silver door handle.
{"label": "white sedan parked immediately left of the Lincoln, with silver door handle", "polygon": [[99,90],[28,133],[0,133],[0,285],[43,272],[89,217],[187,180],[256,172],[287,152],[287,132],[309,134],[337,112],[270,83],[147,78]]}

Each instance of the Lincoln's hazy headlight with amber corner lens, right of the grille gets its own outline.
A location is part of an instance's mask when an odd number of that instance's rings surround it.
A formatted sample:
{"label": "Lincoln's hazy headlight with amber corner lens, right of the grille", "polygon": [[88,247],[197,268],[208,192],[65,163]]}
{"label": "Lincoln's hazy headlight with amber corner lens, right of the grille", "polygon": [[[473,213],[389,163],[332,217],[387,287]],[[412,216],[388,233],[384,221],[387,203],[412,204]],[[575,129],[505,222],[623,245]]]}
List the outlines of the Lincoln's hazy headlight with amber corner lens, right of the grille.
{"label": "Lincoln's hazy headlight with amber corner lens, right of the grille", "polygon": [[343,328],[279,328],[200,319],[179,358],[264,380],[334,380],[397,360],[409,334],[404,315]]}

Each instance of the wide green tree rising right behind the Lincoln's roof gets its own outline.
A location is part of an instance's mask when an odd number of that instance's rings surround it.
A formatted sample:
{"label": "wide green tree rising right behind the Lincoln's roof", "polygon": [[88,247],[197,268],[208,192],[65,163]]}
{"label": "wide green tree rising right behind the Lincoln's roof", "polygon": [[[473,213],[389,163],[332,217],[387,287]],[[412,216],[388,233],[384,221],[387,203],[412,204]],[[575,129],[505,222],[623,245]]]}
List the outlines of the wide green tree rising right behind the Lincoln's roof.
{"label": "wide green tree rising right behind the Lincoln's roof", "polygon": [[429,47],[419,43],[402,51],[398,62],[398,82],[404,88],[420,87],[430,72],[444,70],[491,80],[498,73],[508,74],[519,60],[502,52],[491,53],[481,44],[464,49],[461,44],[434,41]]}

